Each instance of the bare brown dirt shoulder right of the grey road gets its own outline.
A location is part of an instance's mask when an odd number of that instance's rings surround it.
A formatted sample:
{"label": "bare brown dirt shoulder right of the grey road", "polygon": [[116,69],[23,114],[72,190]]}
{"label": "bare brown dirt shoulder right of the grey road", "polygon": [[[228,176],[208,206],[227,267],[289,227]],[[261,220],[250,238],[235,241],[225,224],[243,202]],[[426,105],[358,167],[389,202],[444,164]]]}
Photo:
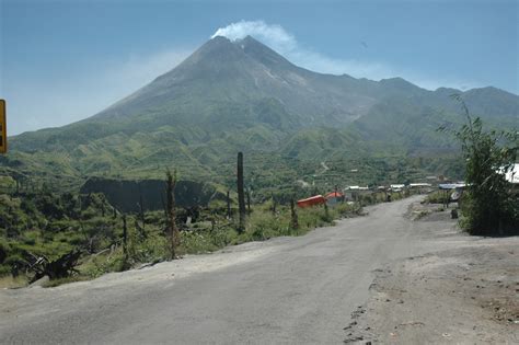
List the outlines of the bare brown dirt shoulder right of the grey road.
{"label": "bare brown dirt shoulder right of the grey road", "polygon": [[519,344],[518,244],[478,239],[376,269],[345,343]]}

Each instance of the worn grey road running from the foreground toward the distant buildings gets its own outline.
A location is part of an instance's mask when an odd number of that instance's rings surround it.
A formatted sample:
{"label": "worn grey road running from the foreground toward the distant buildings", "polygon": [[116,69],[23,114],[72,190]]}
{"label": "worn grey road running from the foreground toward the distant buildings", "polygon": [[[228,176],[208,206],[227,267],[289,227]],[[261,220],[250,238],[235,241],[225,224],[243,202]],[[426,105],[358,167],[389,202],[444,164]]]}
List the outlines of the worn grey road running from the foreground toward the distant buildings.
{"label": "worn grey road running from the foreground toward the distant buildings", "polygon": [[419,197],[367,208],[300,238],[57,288],[0,291],[1,343],[342,343],[373,269],[466,241],[452,223],[418,223]]}

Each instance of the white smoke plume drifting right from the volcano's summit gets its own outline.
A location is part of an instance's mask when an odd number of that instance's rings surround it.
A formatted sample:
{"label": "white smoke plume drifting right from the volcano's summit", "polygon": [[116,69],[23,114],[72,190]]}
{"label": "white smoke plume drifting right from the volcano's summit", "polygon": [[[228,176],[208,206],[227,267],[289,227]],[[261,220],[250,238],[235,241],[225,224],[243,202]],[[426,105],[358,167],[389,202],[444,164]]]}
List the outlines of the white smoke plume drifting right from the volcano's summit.
{"label": "white smoke plume drifting right from the volcano's summit", "polygon": [[281,54],[289,61],[309,70],[332,73],[349,74],[355,78],[380,80],[385,78],[402,77],[422,88],[435,90],[439,87],[460,88],[460,85],[475,87],[477,83],[454,80],[435,80],[420,76],[406,69],[396,69],[380,61],[360,61],[356,59],[336,59],[324,56],[310,48],[301,46],[296,37],[288,33],[281,25],[267,24],[264,21],[240,21],[226,27],[218,28],[211,38],[224,36],[231,41],[244,38],[247,35],[266,44],[272,49]]}

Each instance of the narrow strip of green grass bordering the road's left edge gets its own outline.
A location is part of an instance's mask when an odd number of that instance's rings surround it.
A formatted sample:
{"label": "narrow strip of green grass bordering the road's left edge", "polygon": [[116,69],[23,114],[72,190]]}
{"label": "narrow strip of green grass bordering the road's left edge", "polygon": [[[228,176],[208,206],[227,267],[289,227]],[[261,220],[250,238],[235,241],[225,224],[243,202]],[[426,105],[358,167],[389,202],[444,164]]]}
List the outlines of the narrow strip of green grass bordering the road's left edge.
{"label": "narrow strip of green grass bordering the road's left edge", "polygon": [[[319,227],[334,225],[334,219],[360,215],[355,205],[338,204],[335,207],[312,207],[297,209],[299,227],[291,226],[290,208],[278,206],[272,211],[264,205],[256,206],[247,217],[245,231],[239,233],[237,220],[216,217],[214,222],[199,221],[181,231],[180,255],[203,254],[218,251],[227,245],[251,241],[265,241],[281,235],[302,235]],[[131,223],[131,217],[129,223]],[[136,229],[129,229],[127,253],[117,245],[99,254],[85,256],[77,267],[78,274],[64,279],[49,280],[44,287],[97,278],[109,272],[123,272],[142,264],[154,264],[168,258],[168,240],[160,227],[147,225],[147,237],[139,237]]]}

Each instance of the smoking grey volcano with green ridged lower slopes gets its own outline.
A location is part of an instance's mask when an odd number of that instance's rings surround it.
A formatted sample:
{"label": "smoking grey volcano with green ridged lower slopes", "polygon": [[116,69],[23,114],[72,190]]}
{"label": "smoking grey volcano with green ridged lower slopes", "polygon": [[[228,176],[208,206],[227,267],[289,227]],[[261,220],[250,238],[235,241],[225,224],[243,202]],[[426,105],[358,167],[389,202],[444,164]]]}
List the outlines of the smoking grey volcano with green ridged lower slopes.
{"label": "smoking grey volcano with green ridged lower slopes", "polygon": [[[251,36],[217,36],[89,118],[13,137],[0,162],[76,176],[157,176],[171,162],[203,176],[237,151],[301,160],[419,156],[452,148],[436,128],[463,120],[450,99],[458,91],[316,73]],[[459,93],[492,126],[517,126],[519,96],[496,88]]]}

